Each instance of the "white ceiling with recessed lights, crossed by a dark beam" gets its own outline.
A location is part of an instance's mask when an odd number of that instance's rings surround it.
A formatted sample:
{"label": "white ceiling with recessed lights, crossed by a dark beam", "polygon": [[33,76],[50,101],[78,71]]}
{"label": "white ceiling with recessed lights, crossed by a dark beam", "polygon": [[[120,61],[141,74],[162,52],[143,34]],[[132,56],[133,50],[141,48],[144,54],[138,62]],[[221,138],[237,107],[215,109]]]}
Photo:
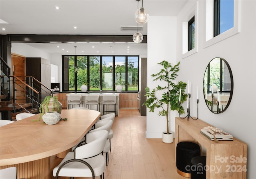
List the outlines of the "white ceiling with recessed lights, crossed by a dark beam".
{"label": "white ceiling with recessed lights, crossed by a dark beam", "polygon": [[[150,16],[177,16],[186,1],[144,0],[143,7]],[[55,6],[60,9],[56,10]],[[137,26],[134,18],[137,6],[136,0],[0,0],[0,33],[133,35],[136,31],[121,31],[120,26]],[[77,28],[74,29],[74,26]],[[147,24],[139,26],[143,26],[139,32],[146,35]],[[86,55],[109,55],[110,46],[112,55],[137,55],[138,52],[146,51],[146,44],[125,42],[27,44],[50,54],[75,54],[74,46],[77,46],[76,54]]]}

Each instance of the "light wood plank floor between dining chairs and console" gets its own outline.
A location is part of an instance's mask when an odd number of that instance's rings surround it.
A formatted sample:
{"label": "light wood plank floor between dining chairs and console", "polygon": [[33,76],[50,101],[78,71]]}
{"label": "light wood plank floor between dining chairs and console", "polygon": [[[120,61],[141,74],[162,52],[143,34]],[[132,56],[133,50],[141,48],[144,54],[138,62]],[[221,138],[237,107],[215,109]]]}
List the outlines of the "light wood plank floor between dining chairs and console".
{"label": "light wood plank floor between dining chairs and console", "polygon": [[[112,130],[105,179],[186,179],[176,172],[174,142],[146,139],[146,116],[140,116],[138,109],[120,109]],[[60,161],[52,156],[51,169]]]}

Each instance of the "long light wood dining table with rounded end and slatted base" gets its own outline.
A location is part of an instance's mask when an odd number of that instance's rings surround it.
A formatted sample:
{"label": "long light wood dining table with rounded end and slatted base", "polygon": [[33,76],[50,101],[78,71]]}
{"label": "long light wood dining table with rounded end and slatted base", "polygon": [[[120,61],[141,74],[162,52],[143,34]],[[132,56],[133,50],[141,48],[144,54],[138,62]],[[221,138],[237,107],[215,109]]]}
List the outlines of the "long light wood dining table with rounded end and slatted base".
{"label": "long light wood dining table with rounded end and slatted base", "polygon": [[0,169],[17,167],[17,178],[50,179],[50,157],[70,150],[99,119],[100,112],[62,110],[54,125],[40,121],[39,114],[0,127]]}

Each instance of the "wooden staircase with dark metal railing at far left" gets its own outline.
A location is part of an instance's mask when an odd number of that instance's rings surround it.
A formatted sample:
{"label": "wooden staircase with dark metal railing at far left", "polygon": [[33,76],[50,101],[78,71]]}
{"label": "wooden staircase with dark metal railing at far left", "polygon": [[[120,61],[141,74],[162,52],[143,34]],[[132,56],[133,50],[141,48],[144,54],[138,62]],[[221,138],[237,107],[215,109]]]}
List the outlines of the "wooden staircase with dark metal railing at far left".
{"label": "wooden staircase with dark metal railing at far left", "polygon": [[50,88],[32,76],[11,76],[10,67],[1,58],[1,119],[12,120],[18,113],[39,113],[44,97],[53,95]]}

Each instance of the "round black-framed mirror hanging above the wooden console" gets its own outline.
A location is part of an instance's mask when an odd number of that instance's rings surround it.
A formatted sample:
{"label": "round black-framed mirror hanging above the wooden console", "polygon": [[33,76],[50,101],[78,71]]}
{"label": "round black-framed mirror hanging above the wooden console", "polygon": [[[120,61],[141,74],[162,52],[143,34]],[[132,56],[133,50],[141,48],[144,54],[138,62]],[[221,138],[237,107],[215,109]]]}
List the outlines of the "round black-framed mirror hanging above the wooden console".
{"label": "round black-framed mirror hanging above the wooden console", "polygon": [[233,95],[233,75],[224,58],[214,58],[204,72],[204,99],[213,113],[223,113]]}

